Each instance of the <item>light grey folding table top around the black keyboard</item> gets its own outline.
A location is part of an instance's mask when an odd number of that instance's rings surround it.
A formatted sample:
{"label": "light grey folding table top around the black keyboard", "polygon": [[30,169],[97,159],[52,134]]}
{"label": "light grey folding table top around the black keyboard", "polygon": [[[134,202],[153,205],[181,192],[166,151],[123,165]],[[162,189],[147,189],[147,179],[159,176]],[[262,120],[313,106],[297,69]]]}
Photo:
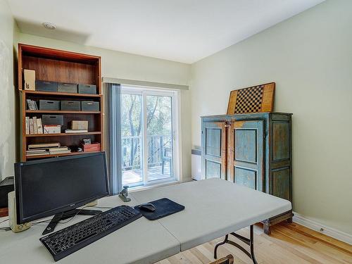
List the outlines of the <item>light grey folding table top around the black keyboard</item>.
{"label": "light grey folding table top around the black keyboard", "polygon": [[[130,196],[130,203],[109,196],[99,199],[98,205],[134,206],[167,197],[185,209],[156,221],[139,218],[58,263],[153,263],[291,209],[289,201],[218,179],[135,191]],[[77,215],[57,230],[86,218]],[[41,223],[17,234],[0,232],[1,263],[54,263],[39,241],[45,227]]]}

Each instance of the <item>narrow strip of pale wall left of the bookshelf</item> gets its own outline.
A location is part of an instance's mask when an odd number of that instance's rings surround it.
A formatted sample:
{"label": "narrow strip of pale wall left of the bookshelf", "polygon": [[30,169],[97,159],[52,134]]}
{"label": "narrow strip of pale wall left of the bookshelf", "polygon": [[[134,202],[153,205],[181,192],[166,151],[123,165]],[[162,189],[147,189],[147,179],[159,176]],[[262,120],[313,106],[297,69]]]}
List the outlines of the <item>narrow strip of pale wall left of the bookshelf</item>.
{"label": "narrow strip of pale wall left of the bookshelf", "polygon": [[14,28],[10,8],[0,0],[0,180],[13,175],[15,161]]}

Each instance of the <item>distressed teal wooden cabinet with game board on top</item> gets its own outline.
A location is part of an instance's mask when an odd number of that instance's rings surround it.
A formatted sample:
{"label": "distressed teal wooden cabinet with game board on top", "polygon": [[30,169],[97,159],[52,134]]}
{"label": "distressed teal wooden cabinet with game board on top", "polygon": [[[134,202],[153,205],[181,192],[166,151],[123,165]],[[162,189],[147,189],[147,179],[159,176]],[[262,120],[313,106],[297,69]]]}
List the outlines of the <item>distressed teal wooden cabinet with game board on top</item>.
{"label": "distressed teal wooden cabinet with game board on top", "polygon": [[[292,201],[291,113],[203,116],[202,176]],[[264,231],[292,212],[263,221]]]}

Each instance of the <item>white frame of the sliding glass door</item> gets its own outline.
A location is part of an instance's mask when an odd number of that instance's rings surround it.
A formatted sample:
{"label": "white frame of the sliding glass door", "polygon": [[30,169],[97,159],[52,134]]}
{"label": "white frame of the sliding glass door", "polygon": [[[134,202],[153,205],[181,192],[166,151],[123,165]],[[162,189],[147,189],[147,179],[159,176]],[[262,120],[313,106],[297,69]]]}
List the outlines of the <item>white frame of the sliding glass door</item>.
{"label": "white frame of the sliding glass door", "polygon": [[[174,184],[182,181],[182,134],[181,134],[181,100],[180,100],[180,91],[177,89],[163,89],[159,87],[144,87],[137,85],[128,85],[121,84],[121,94],[139,94],[143,96],[143,100],[146,99],[147,95],[160,95],[160,96],[171,96],[172,101],[172,144],[174,151],[174,158],[172,162],[173,168],[173,177],[154,180],[152,182],[146,181],[146,173],[144,173],[143,185],[131,186],[131,191],[139,190],[139,189],[149,189],[151,187],[163,186],[168,184]],[[144,108],[146,108],[146,104],[144,104]],[[146,109],[143,109],[143,114],[146,115]],[[143,117],[145,120],[145,116]],[[142,120],[142,121],[143,121]],[[144,125],[144,131],[146,131],[146,124]],[[143,135],[143,140],[146,141],[146,133]],[[146,148],[143,149],[144,157],[147,156],[148,151]],[[143,161],[144,167],[146,167],[146,163]],[[146,168],[144,168],[144,172],[146,172]]]}

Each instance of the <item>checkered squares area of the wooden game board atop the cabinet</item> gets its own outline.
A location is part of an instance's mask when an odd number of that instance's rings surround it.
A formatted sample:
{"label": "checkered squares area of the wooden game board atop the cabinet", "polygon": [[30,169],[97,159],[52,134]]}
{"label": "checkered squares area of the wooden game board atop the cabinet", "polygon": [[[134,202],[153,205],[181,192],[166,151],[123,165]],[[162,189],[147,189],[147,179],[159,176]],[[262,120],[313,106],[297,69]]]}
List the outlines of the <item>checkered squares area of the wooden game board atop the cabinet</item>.
{"label": "checkered squares area of the wooden game board atop the cabinet", "polygon": [[240,89],[237,92],[234,113],[257,113],[261,111],[264,85]]}

